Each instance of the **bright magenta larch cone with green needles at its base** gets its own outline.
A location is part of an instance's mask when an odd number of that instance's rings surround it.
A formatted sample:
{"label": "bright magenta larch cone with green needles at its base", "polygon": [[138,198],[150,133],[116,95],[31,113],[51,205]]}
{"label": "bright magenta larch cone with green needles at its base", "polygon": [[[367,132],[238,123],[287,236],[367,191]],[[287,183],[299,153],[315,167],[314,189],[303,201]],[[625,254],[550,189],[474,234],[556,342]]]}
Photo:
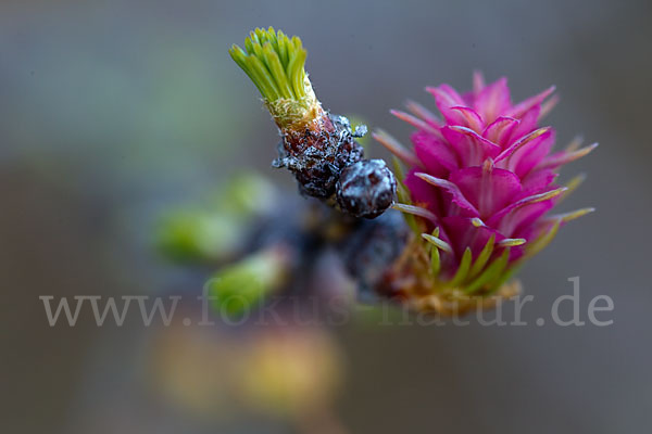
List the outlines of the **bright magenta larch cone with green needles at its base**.
{"label": "bright magenta larch cone with green needles at its base", "polygon": [[539,120],[556,102],[548,99],[553,87],[518,104],[505,78],[485,86],[480,74],[468,93],[448,85],[427,91],[442,118],[413,102],[412,114],[392,112],[417,128],[413,150],[375,135],[410,167],[397,207],[418,216],[411,224],[423,232],[388,275],[385,291],[419,309],[446,311],[451,301],[513,293],[517,284],[505,282],[518,265],[561,225],[592,210],[548,216],[580,180],[556,184],[559,168],[597,144],[551,152],[554,130]]}

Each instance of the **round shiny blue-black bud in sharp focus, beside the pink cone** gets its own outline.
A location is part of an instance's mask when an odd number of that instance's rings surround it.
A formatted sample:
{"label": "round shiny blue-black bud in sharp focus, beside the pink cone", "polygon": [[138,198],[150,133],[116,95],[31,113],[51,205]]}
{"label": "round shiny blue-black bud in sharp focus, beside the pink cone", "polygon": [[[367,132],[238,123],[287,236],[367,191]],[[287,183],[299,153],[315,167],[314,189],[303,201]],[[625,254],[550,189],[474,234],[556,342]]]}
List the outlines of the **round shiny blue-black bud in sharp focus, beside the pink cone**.
{"label": "round shiny blue-black bud in sharp focus, beside the pink cone", "polygon": [[397,180],[383,159],[361,159],[347,166],[336,186],[337,202],[342,210],[374,218],[394,201]]}

